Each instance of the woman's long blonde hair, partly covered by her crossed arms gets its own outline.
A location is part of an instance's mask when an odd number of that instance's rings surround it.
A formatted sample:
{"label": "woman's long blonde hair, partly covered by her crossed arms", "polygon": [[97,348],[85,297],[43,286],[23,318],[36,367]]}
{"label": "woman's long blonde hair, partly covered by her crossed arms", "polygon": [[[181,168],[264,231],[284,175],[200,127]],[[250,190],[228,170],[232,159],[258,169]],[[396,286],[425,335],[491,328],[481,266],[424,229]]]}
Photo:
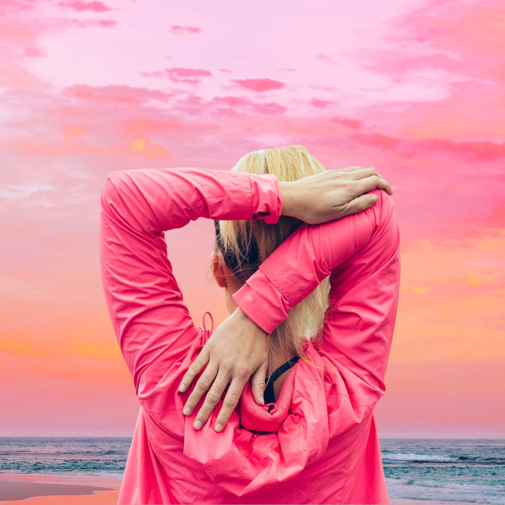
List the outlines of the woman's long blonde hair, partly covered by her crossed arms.
{"label": "woman's long blonde hair, partly covered by her crossed arms", "polygon": [[[240,158],[231,169],[234,172],[258,175],[274,174],[279,181],[294,181],[325,170],[302,145],[252,151]],[[276,224],[267,224],[262,220],[215,221],[215,251],[218,252],[218,248],[221,250],[236,284],[242,286],[302,223],[303,221],[290,216],[281,216]],[[296,272],[292,275],[296,276]],[[275,357],[286,356],[292,351],[309,365],[316,366],[308,359],[304,343],[307,339],[313,343],[321,340],[329,290],[328,276],[295,305],[289,311],[288,318],[271,333],[268,378],[274,372]]]}

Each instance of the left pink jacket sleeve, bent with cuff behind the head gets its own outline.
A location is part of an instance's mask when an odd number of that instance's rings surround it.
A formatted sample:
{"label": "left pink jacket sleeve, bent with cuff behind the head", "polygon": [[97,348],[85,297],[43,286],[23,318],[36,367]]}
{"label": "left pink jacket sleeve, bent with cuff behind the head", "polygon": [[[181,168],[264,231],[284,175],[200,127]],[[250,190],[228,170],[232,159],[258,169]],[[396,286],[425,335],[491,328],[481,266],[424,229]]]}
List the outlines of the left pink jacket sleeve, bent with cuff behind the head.
{"label": "left pink jacket sleeve, bent with cuff behind the head", "polygon": [[273,174],[202,168],[111,173],[100,195],[99,254],[107,307],[141,405],[198,334],[167,256],[165,231],[205,217],[277,223]]}

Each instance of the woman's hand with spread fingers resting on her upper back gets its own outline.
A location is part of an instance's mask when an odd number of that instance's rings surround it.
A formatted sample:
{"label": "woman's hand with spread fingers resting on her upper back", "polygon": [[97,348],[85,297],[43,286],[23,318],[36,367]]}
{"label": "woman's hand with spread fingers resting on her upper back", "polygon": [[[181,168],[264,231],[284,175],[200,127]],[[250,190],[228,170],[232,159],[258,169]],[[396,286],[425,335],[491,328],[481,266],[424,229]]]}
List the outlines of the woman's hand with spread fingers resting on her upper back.
{"label": "woman's hand with spread fingers resting on her upper back", "polygon": [[[185,391],[208,363],[182,411],[185,415],[191,414],[200,398],[209,390],[193,423],[194,428],[199,429],[204,425],[230,381],[223,407],[214,425],[216,431],[221,431],[228,422],[251,376],[252,395],[259,405],[265,405],[263,395],[269,342],[267,333],[249,319],[240,308],[237,308],[213,331],[182,378],[181,385],[184,384],[185,387],[183,389],[179,387],[179,391]],[[189,410],[186,411],[186,409]],[[200,425],[198,425],[199,422],[201,422]]]}

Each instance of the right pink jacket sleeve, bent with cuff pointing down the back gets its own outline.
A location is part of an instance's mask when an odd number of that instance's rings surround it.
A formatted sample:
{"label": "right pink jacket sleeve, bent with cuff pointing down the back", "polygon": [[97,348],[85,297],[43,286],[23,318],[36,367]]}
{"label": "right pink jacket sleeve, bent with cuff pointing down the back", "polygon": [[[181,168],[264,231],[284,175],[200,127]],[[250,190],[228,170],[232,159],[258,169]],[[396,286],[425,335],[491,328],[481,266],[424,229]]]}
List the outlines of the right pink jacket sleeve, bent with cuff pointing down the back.
{"label": "right pink jacket sleeve, bent with cuff pointing down the back", "polygon": [[[302,224],[233,294],[237,305],[267,333],[330,275],[321,349],[372,389],[384,376],[398,304],[399,228],[383,189],[365,211],[318,225]],[[371,397],[362,395],[362,398]],[[365,400],[367,401],[367,400]]]}

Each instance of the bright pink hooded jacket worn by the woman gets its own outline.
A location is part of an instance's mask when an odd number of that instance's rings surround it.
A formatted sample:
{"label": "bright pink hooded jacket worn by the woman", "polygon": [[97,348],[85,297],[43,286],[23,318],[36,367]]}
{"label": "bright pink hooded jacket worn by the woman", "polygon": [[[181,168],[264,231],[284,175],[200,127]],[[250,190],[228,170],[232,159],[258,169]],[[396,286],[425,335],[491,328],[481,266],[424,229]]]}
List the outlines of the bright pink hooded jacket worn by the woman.
{"label": "bright pink hooded jacket worn by the woman", "polygon": [[[118,503],[389,503],[374,419],[396,316],[399,231],[382,189],[371,208],[302,224],[234,295],[271,333],[331,274],[323,340],[305,343],[274,409],[250,383],[225,428],[223,398],[203,428],[203,399],[177,387],[212,328],[195,326],[167,257],[164,231],[200,217],[275,224],[276,177],[202,168],[113,172],[100,198],[107,305],[140,409]],[[205,314],[204,314],[205,318]],[[256,434],[254,431],[269,431]]]}

